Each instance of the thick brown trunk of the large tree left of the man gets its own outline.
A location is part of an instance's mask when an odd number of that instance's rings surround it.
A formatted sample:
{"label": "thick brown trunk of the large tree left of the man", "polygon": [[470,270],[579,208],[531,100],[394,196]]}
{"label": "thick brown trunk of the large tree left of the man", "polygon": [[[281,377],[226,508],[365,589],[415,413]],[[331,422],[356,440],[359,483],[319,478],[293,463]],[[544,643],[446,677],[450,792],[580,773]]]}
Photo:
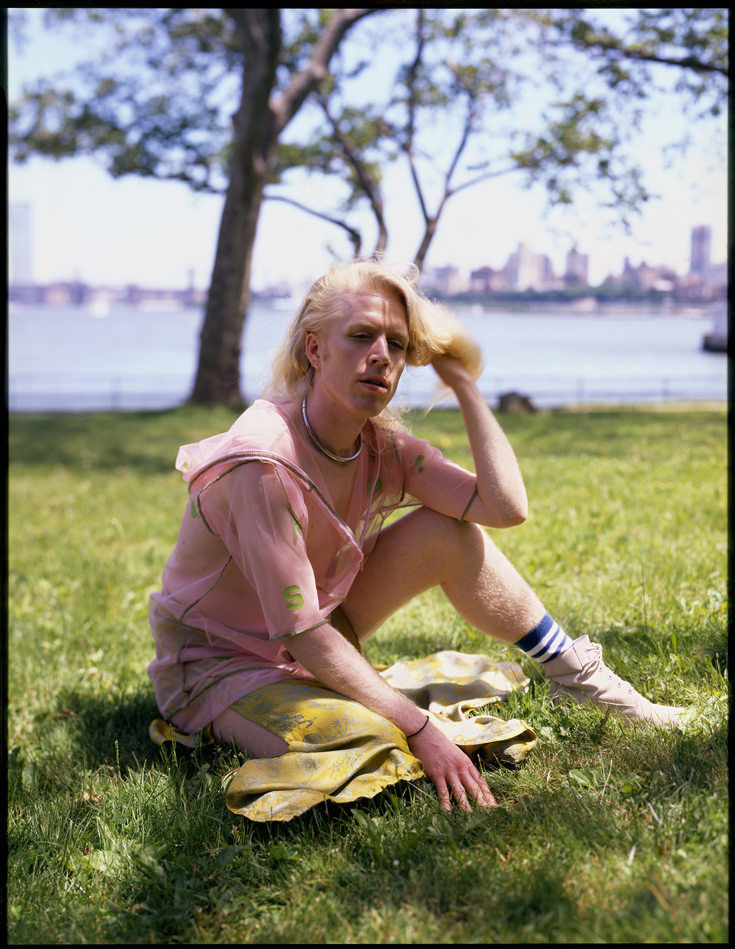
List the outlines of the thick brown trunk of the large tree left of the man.
{"label": "thick brown trunk of the large tree left of the man", "polygon": [[281,51],[280,10],[231,9],[243,47],[243,92],[233,116],[235,147],[217,239],[192,402],[237,407],[250,260],[258,223],[273,115],[268,106]]}

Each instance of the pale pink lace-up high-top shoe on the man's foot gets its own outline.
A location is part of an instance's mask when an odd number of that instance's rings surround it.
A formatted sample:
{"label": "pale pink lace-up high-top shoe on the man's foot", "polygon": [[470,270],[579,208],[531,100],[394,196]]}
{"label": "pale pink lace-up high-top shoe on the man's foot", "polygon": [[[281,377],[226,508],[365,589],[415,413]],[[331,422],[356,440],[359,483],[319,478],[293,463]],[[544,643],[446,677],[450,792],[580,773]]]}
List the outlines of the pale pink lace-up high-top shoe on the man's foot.
{"label": "pale pink lace-up high-top shoe on the man's foot", "polygon": [[647,721],[666,727],[675,725],[683,708],[653,705],[639,695],[630,682],[619,679],[602,661],[602,646],[590,642],[589,636],[580,636],[557,659],[543,663],[549,679],[549,697],[555,705],[565,698],[576,702],[592,702],[603,711],[634,721]]}

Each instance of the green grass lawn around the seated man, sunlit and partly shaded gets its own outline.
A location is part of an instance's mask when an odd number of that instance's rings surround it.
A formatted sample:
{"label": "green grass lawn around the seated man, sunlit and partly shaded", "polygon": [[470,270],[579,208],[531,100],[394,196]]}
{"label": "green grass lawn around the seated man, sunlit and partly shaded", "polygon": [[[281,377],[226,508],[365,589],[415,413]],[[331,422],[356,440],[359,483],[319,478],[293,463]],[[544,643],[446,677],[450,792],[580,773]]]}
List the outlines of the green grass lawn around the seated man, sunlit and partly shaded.
{"label": "green grass lawn around the seated man, sunlit and partly shaded", "polygon": [[[9,484],[9,941],[726,942],[724,411],[505,417],[530,499],[496,543],[573,636],[696,716],[671,732],[554,713],[543,675],[440,592],[368,644],[521,661],[494,706],[541,740],[443,816],[426,788],[255,825],[231,751],[160,753],[147,599],[184,509],[179,444],[225,411],[14,417]],[[413,419],[471,466],[458,413]]]}

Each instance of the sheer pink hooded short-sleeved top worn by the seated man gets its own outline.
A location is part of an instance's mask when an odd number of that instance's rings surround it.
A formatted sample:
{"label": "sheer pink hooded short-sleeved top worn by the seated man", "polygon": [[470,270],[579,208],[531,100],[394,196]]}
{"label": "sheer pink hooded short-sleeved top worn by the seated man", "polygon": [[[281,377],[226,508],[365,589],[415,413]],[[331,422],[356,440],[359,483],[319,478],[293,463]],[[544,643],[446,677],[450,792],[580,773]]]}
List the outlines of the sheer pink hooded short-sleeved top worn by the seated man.
{"label": "sheer pink hooded short-sleeved top worn by the seated man", "polygon": [[255,689],[311,678],[286,642],[329,622],[391,512],[467,512],[474,474],[407,432],[368,422],[363,436],[345,520],[281,403],[258,400],[229,432],[179,449],[190,496],[151,597],[148,667],[177,728],[193,734]]}

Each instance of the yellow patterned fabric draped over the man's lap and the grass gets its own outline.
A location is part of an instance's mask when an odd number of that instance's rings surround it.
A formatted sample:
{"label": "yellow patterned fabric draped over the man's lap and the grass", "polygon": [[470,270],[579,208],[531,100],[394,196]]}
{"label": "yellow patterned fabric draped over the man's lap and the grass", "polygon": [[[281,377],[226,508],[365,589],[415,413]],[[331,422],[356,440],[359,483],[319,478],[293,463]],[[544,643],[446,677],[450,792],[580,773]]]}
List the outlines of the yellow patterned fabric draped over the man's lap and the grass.
{"label": "yellow patterned fabric draped over the man's lap and the grass", "polygon": [[[520,719],[467,717],[470,709],[527,688],[514,662],[445,651],[396,663],[381,675],[467,754],[519,763],[536,746],[536,733]],[[247,761],[230,782],[228,808],[250,820],[289,821],[322,801],[374,797],[423,776],[392,722],[314,680],[268,685],[230,707],[288,743],[284,754]]]}

